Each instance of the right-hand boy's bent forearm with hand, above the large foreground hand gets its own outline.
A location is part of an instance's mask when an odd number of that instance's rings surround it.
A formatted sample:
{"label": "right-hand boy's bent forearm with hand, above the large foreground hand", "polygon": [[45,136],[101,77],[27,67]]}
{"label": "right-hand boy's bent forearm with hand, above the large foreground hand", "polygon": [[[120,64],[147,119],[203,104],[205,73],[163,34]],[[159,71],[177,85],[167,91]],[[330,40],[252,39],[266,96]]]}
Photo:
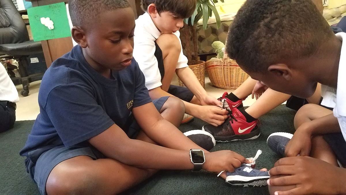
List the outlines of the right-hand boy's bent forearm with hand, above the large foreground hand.
{"label": "right-hand boy's bent forearm with hand, above the large foreground hand", "polygon": [[340,132],[338,119],[333,113],[315,120],[303,123],[295,131],[292,139],[286,145],[285,155],[288,157],[307,156],[311,150],[311,136]]}

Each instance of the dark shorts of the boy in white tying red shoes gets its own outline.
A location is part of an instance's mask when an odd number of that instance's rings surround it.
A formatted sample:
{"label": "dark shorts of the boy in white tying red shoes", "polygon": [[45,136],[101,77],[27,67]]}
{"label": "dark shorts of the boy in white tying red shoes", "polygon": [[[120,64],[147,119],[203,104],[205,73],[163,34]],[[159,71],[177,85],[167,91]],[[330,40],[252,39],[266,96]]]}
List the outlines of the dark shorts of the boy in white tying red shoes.
{"label": "dark shorts of the boy in white tying red shoes", "polygon": [[[161,80],[165,76],[165,67],[163,65],[163,56],[162,56],[162,50],[161,48],[157,45],[155,41],[155,57],[157,59],[158,63],[158,70],[160,71],[161,75]],[[176,86],[176,85],[170,85],[168,93],[178,97],[181,100],[184,100],[186,102],[191,102],[193,98],[193,93],[186,87],[181,87],[181,86]]]}

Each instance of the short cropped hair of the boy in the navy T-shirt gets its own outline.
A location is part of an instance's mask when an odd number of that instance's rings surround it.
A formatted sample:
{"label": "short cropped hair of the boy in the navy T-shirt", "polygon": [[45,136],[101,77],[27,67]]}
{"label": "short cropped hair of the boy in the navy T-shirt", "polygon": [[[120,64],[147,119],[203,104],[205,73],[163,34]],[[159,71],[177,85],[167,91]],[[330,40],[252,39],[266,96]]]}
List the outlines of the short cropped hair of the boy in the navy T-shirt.
{"label": "short cropped hair of the boy in the navy T-shirt", "polygon": [[80,27],[96,23],[102,12],[128,7],[127,0],[69,0],[72,25]]}

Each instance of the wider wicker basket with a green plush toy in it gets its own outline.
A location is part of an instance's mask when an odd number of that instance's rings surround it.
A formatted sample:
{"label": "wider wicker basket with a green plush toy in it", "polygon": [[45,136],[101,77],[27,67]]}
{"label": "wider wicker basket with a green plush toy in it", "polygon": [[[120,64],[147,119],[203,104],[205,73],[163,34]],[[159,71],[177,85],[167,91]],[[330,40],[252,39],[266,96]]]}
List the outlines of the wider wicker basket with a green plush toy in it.
{"label": "wider wicker basket with a green plush toy in it", "polygon": [[228,58],[208,60],[206,69],[214,86],[228,90],[238,88],[249,77],[235,60]]}

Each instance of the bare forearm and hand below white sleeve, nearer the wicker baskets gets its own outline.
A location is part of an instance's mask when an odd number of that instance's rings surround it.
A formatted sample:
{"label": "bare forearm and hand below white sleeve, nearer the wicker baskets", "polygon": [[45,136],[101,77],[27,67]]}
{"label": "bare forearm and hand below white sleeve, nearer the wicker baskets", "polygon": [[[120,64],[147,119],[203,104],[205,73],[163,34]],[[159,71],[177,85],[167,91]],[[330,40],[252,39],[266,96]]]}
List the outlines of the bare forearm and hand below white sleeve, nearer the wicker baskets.
{"label": "bare forearm and hand below white sleeve, nearer the wicker baskets", "polygon": [[189,67],[178,68],[175,70],[176,75],[182,80],[184,85],[197,97],[202,105],[221,106],[221,102],[216,98],[209,96],[199,83],[196,75]]}

